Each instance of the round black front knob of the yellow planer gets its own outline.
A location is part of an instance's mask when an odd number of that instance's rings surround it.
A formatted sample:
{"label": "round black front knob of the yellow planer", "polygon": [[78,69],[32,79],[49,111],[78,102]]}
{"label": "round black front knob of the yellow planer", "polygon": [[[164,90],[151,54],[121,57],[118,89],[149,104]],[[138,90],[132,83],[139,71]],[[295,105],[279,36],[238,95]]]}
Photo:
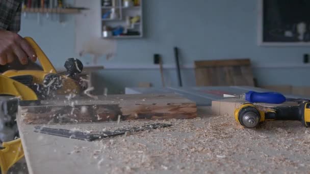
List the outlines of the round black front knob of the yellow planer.
{"label": "round black front knob of the yellow planer", "polygon": [[65,68],[67,70],[66,75],[69,77],[74,77],[76,74],[80,74],[83,71],[83,64],[78,59],[69,58],[65,62]]}

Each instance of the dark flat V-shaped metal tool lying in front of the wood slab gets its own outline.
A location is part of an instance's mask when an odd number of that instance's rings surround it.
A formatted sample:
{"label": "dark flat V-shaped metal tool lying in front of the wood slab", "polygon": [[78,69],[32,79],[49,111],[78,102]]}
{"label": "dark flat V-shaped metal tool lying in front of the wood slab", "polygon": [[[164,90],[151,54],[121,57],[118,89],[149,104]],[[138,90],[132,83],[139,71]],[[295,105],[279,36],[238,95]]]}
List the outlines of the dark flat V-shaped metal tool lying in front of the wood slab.
{"label": "dark flat V-shaped metal tool lying in front of the wood slab", "polygon": [[126,132],[133,133],[133,132],[138,132],[138,131],[157,129],[157,128],[163,128],[163,127],[169,127],[169,126],[172,126],[172,125],[165,124],[165,123],[157,123],[157,124],[144,125],[141,127],[132,127],[128,129],[117,129],[115,131],[104,131],[104,132],[96,132],[96,133],[85,133],[85,132],[80,132],[80,131],[71,131],[71,130],[66,130],[66,129],[53,129],[53,128],[46,128],[42,126],[36,126],[34,131],[38,133],[48,134],[48,135],[55,135],[55,136],[61,136],[61,137],[66,137],[66,138],[72,138],[72,139],[93,141],[96,139],[102,139],[102,138],[122,135],[122,134],[125,134]]}

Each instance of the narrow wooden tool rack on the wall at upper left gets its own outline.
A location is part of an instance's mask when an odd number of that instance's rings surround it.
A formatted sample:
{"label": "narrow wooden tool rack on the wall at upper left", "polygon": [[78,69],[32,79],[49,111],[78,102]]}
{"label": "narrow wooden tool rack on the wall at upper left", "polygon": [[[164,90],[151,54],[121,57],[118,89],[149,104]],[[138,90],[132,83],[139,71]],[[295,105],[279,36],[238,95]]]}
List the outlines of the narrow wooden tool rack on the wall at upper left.
{"label": "narrow wooden tool rack on the wall at upper left", "polygon": [[45,9],[45,8],[26,8],[22,9],[22,12],[27,13],[65,13],[65,14],[74,14],[80,13],[82,9],[75,8],[54,8],[54,9]]}

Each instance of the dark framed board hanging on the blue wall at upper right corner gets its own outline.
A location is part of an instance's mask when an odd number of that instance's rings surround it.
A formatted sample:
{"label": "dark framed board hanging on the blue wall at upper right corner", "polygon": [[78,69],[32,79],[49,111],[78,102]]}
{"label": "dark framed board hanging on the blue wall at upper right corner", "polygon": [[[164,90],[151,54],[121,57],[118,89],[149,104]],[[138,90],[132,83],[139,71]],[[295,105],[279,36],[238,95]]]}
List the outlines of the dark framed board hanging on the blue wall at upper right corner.
{"label": "dark framed board hanging on the blue wall at upper right corner", "polygon": [[263,42],[309,42],[310,0],[263,0]]}

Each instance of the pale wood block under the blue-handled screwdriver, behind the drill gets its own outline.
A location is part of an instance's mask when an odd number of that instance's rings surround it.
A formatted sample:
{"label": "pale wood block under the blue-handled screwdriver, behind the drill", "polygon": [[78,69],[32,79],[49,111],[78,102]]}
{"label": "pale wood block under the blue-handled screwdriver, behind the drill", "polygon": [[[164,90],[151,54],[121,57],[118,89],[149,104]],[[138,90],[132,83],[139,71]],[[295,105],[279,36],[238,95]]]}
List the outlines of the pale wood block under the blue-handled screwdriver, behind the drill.
{"label": "pale wood block under the blue-handled screwdriver, behind the drill", "polygon": [[[235,109],[240,107],[242,103],[247,102],[242,99],[227,98],[222,100],[212,101],[212,114],[214,115],[225,115],[234,116]],[[255,105],[260,105],[264,107],[274,107],[274,106],[294,106],[298,105],[297,102],[285,102],[281,104],[270,104],[270,103],[254,103]]]}

